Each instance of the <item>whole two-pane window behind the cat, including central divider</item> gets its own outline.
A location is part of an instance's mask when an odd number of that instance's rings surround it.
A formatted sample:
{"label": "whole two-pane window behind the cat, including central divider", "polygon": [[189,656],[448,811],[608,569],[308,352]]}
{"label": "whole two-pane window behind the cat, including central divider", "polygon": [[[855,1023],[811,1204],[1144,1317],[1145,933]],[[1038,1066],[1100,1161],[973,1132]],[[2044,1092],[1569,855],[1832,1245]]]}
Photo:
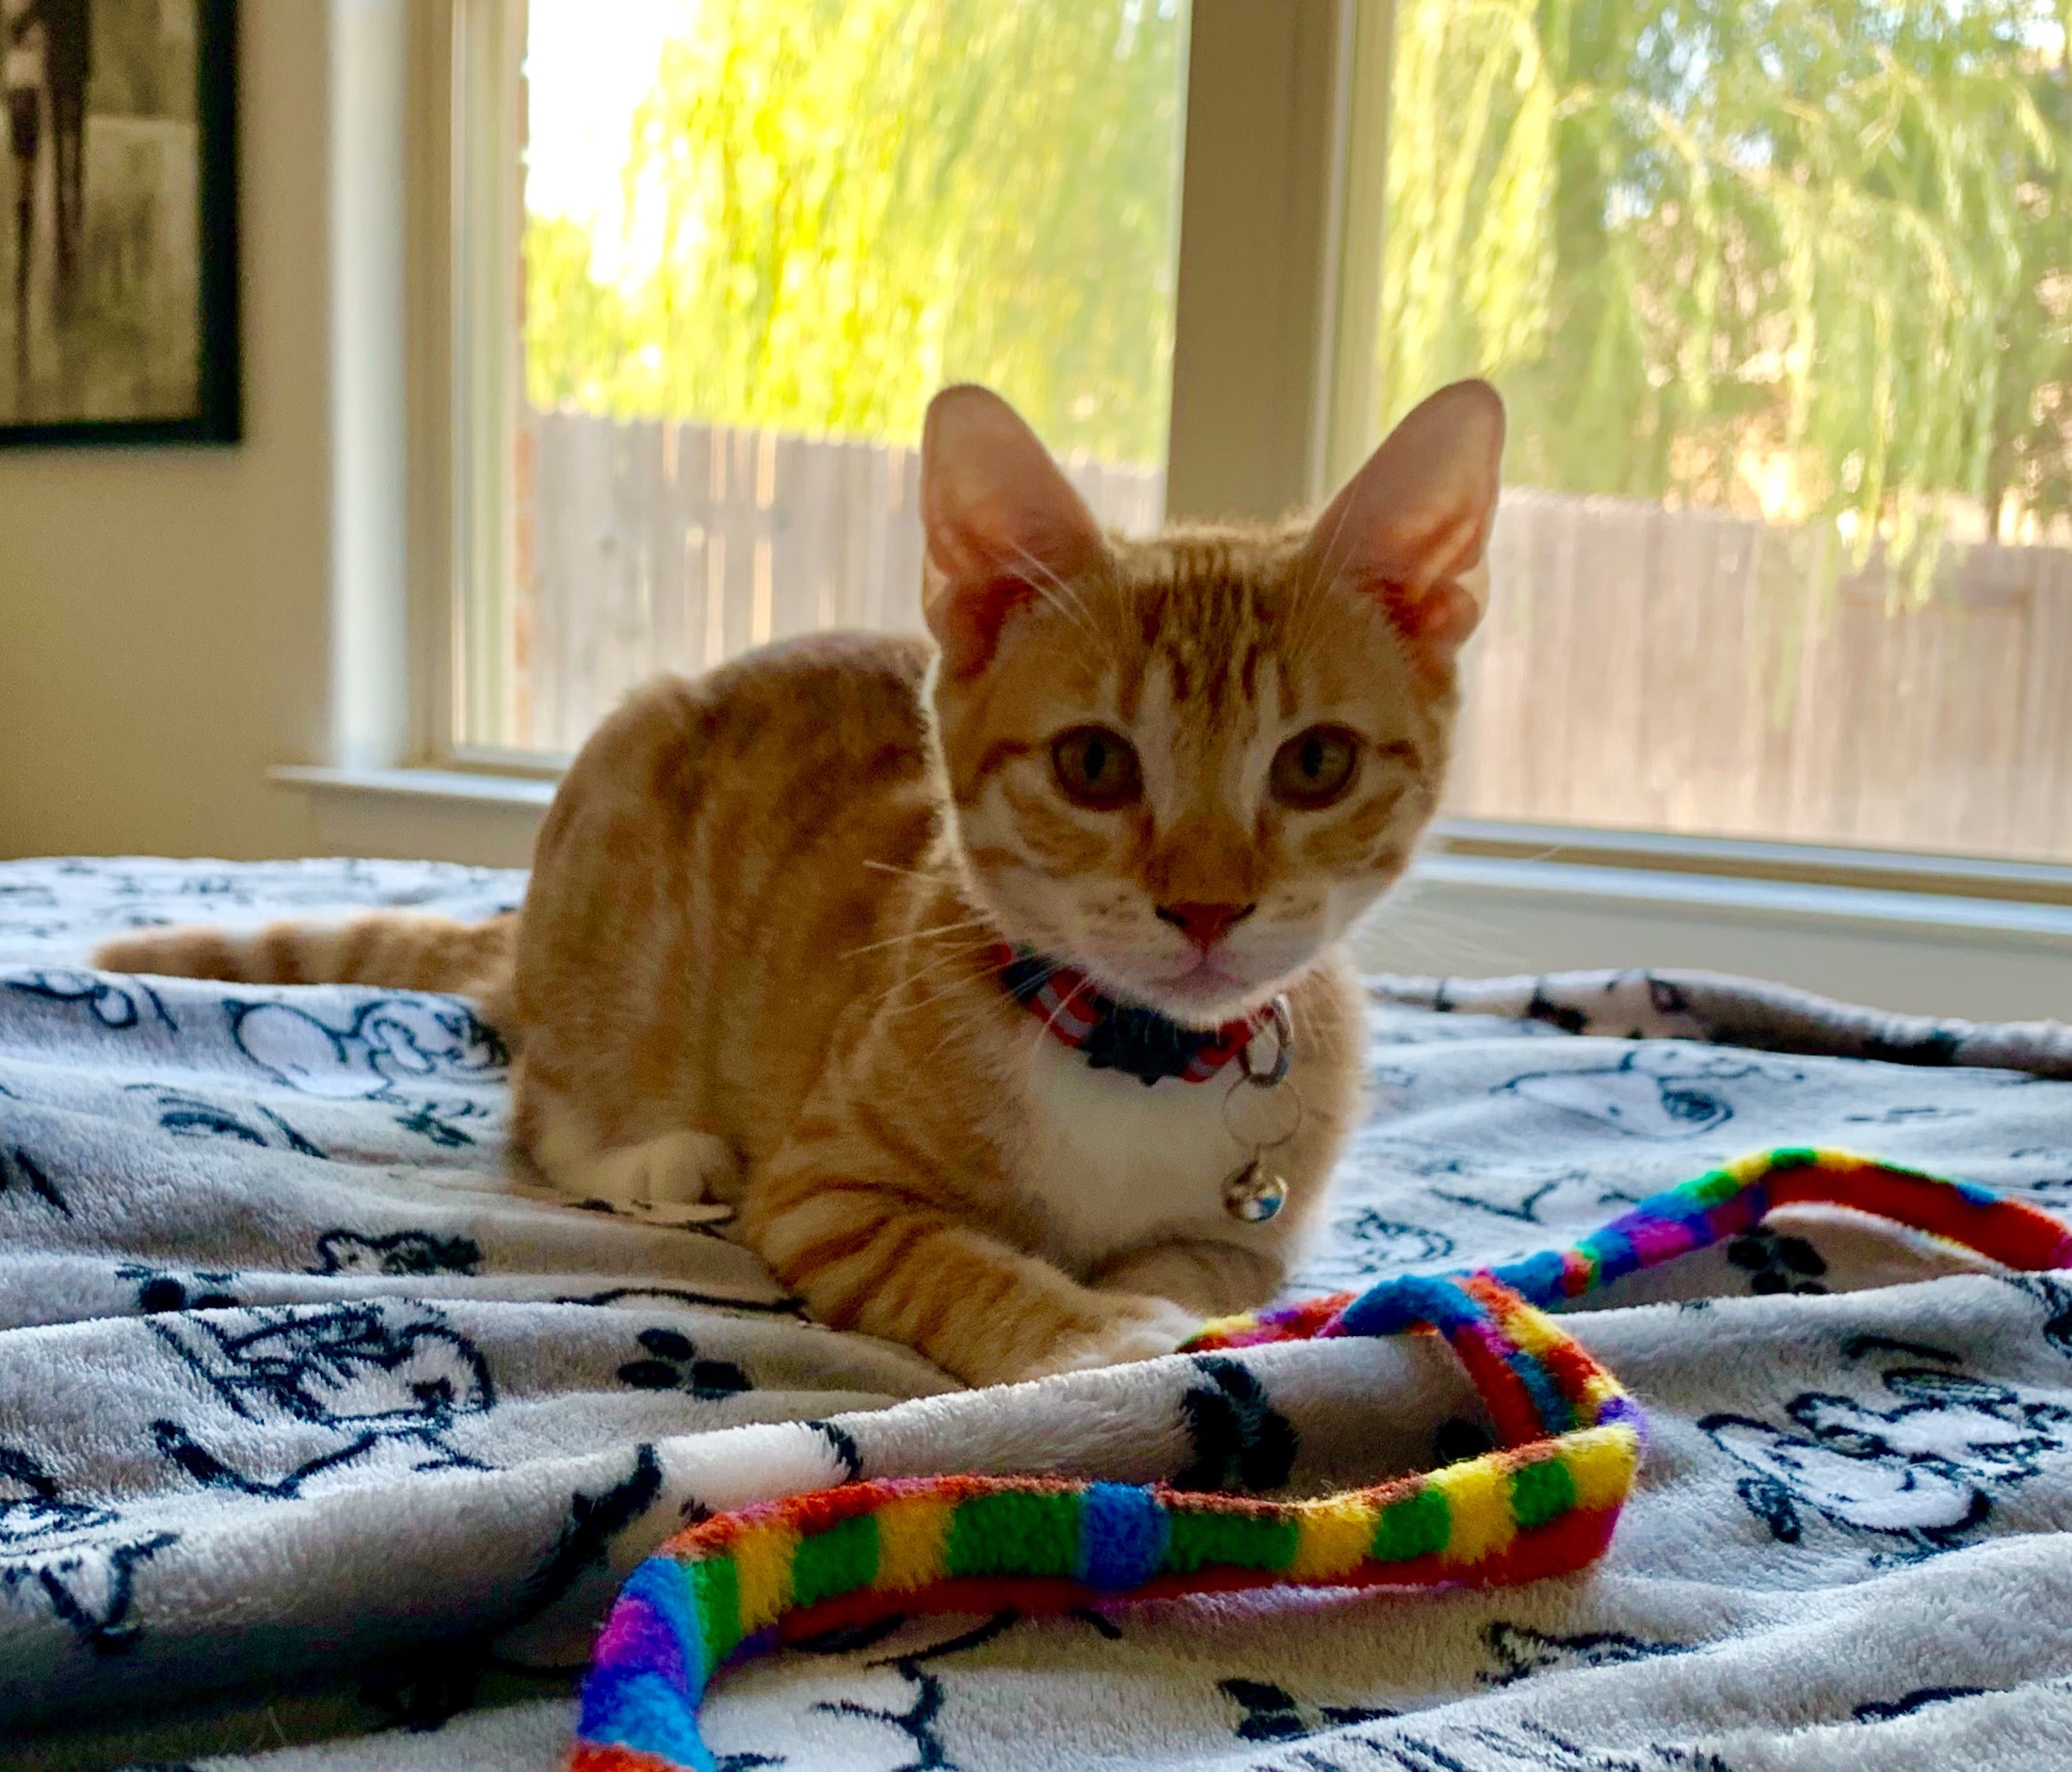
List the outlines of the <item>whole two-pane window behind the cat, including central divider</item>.
{"label": "whole two-pane window behind the cat, including central divider", "polygon": [[[2043,0],[456,4],[497,21],[460,81],[462,759],[551,763],[655,669],[912,628],[947,379],[1144,528],[1169,410],[1175,485],[1208,458],[1210,504],[1278,506],[1486,373],[1459,829],[2072,860]],[[1280,158],[1245,158],[1260,114]]]}

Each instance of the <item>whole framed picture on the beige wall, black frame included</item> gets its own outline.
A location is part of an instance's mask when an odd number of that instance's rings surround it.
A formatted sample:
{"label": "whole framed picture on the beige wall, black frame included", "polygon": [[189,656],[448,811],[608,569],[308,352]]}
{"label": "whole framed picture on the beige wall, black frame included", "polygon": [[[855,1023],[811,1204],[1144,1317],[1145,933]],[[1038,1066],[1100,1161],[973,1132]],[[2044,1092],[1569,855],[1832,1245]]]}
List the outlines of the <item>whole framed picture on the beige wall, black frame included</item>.
{"label": "whole framed picture on the beige wall, black frame included", "polygon": [[236,0],[0,0],[0,448],[236,441]]}

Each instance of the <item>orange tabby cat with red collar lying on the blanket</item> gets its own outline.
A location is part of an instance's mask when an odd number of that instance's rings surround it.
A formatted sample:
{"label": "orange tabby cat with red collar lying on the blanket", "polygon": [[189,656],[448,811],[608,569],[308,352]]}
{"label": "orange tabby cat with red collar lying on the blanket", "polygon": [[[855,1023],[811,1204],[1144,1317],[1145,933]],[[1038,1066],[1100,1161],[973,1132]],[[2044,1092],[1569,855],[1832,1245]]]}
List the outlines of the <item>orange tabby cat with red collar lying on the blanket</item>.
{"label": "orange tabby cat with red collar lying on the blanket", "polygon": [[[516,1049],[516,1146],[570,1198],[723,1202],[818,1320],[970,1382],[1167,1353],[1274,1291],[1357,1117],[1341,941],[1438,802],[1500,450],[1465,381],[1314,524],[1123,541],[951,388],[934,649],[825,636],[642,690],[516,920],[99,962],[472,993]],[[1280,995],[1287,1082],[1254,1090]],[[1231,1194],[1291,1127],[1285,1196]]]}

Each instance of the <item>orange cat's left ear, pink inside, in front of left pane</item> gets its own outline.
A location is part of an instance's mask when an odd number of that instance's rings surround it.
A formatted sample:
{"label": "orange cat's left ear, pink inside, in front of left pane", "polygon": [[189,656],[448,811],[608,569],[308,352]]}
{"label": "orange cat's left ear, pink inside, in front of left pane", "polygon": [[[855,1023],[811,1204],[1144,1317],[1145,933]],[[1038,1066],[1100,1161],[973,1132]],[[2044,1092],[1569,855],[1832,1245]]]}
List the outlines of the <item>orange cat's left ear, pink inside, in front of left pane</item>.
{"label": "orange cat's left ear, pink inside, in front of left pane", "polygon": [[986,667],[1040,589],[1106,560],[1100,524],[999,394],[945,388],[920,433],[922,616],[953,676]]}

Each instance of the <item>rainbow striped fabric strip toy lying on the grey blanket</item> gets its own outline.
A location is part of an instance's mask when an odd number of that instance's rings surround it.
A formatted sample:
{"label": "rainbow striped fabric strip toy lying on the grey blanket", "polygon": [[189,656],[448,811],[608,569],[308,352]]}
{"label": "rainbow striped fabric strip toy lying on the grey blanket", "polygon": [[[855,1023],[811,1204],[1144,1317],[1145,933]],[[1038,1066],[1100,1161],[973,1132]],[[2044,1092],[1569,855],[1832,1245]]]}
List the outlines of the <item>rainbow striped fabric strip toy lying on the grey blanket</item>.
{"label": "rainbow striped fabric strip toy lying on the grey blanket", "polygon": [[1838,1150],[1769,1150],[1643,1200],[1562,1252],[1405,1275],[1256,1316],[1189,1351],[1436,1331],[1500,1449],[1314,1501],[1053,1478],[854,1482],[717,1515],[628,1577],[582,1687],[572,1772],[713,1772],[698,1704],[719,1668],[891,1612],[1071,1606],[1299,1583],[1498,1585],[1600,1556],[1645,1424],[1539,1306],[1581,1297],[1757,1225],[1784,1204],[1852,1206],[2012,1268],[2072,1266],[2072,1233],[1987,1188]]}

